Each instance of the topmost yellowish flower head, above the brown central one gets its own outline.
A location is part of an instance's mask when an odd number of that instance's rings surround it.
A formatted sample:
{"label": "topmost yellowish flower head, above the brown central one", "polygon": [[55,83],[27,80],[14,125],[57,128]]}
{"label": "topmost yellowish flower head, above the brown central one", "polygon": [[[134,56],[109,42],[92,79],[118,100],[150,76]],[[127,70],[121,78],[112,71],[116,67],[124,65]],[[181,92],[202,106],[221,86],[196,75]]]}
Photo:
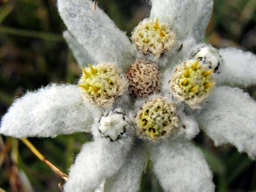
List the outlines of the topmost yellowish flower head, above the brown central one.
{"label": "topmost yellowish flower head, above the brown central one", "polygon": [[165,23],[144,19],[132,32],[132,41],[142,54],[153,54],[159,58],[165,51],[172,50],[175,42],[175,34],[169,30]]}

